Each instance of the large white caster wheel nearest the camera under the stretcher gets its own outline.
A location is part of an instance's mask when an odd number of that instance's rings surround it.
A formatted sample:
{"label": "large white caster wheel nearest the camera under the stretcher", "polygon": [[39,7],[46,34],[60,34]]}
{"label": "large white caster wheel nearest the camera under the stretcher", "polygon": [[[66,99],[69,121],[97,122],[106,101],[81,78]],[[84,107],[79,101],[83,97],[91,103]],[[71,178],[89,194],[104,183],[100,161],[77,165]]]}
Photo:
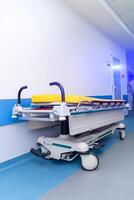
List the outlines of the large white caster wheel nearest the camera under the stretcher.
{"label": "large white caster wheel nearest the camera under the stretcher", "polygon": [[81,166],[87,171],[95,170],[99,165],[99,159],[93,154],[83,154],[81,157]]}

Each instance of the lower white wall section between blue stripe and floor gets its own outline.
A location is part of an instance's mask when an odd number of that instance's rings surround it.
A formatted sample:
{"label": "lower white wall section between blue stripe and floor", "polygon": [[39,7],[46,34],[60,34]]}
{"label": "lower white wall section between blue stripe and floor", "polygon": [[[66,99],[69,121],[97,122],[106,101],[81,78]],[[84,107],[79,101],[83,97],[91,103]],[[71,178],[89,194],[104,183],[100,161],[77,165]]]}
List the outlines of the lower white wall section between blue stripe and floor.
{"label": "lower white wall section between blue stripe and floor", "polygon": [[[27,123],[3,126],[0,128],[0,163],[36,148],[37,138],[44,134],[44,130],[28,130]],[[46,136],[58,135],[59,128],[45,130]]]}

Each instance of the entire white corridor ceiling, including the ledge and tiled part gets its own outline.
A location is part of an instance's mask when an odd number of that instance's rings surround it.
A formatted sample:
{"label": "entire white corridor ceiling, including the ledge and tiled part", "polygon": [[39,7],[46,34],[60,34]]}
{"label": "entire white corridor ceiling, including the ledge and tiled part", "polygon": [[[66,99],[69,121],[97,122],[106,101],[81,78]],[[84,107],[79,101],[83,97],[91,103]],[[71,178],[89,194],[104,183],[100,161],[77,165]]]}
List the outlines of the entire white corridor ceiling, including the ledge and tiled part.
{"label": "entire white corridor ceiling, including the ledge and tiled part", "polygon": [[102,32],[134,50],[134,0],[64,0]]}

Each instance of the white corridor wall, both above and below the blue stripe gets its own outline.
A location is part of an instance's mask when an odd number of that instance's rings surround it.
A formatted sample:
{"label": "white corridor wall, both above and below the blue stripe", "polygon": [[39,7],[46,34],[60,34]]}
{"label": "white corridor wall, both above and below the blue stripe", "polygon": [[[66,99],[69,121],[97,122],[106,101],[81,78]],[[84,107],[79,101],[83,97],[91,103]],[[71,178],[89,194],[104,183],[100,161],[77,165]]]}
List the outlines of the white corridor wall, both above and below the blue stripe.
{"label": "white corridor wall, both above and below the blue stripe", "polygon": [[[67,93],[110,95],[112,73],[106,62],[111,53],[121,60],[126,94],[125,49],[62,0],[0,0],[0,99],[16,98],[26,84],[24,97],[57,92],[50,81],[61,82]],[[24,123],[1,127],[0,162],[27,152],[37,135]]]}

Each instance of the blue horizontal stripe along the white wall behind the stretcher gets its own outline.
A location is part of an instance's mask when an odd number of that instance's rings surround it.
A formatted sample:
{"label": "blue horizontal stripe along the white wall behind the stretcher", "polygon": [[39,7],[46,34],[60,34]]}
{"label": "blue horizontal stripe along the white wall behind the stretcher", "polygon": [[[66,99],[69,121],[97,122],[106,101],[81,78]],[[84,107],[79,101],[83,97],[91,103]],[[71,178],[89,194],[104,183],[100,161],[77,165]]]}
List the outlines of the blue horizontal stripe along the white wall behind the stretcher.
{"label": "blue horizontal stripe along the white wall behind the stretcher", "polygon": [[[94,98],[112,99],[111,95],[92,96]],[[123,95],[123,99],[128,102],[128,95]],[[22,105],[29,107],[31,99],[22,99]],[[0,100],[0,126],[19,122],[18,119],[12,119],[12,107],[17,104],[17,99],[2,99]]]}

